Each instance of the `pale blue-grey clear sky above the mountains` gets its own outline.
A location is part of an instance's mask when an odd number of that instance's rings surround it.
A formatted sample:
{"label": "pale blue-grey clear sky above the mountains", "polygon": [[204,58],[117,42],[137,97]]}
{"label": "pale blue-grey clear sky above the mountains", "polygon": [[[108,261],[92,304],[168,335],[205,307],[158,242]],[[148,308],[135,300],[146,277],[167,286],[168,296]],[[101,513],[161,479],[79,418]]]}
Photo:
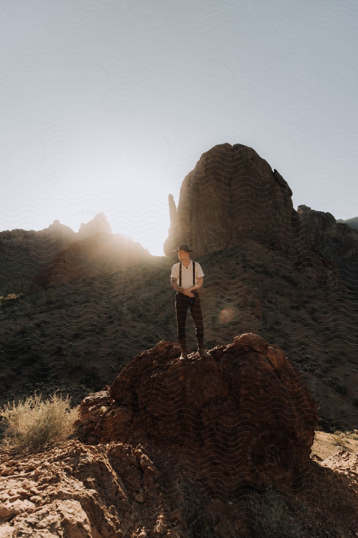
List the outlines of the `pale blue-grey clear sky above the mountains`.
{"label": "pale blue-grey clear sky above the mountains", "polygon": [[353,1],[0,0],[0,230],[103,211],[163,256],[168,194],[225,142],[358,216],[357,26]]}

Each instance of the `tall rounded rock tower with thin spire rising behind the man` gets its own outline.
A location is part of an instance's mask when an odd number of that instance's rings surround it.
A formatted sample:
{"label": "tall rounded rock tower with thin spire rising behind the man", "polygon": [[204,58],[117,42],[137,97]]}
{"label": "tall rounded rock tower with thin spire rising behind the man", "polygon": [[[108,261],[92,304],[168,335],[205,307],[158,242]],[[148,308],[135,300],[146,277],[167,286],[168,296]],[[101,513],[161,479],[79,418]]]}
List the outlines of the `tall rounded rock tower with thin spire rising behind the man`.
{"label": "tall rounded rock tower with thin spire rising behind the man", "polygon": [[279,172],[251,147],[214,146],[185,177],[177,211],[170,195],[165,256],[172,257],[179,243],[189,244],[200,258],[254,242],[284,256],[287,266],[309,278],[341,284],[337,266],[312,249],[310,231],[291,196]]}

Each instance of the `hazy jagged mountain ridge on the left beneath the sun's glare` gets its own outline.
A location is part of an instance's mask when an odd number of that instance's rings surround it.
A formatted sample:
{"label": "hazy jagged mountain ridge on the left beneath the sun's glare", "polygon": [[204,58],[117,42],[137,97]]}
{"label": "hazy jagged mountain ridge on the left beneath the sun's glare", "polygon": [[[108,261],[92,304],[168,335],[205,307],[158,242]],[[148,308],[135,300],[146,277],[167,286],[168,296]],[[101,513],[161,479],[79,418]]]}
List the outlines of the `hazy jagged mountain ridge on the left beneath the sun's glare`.
{"label": "hazy jagged mountain ridge on the left beneath the sun's glare", "polygon": [[104,213],[82,223],[78,232],[59,220],[40,231],[0,232],[0,255],[0,296],[33,293],[150,258],[140,243],[123,234],[113,235]]}

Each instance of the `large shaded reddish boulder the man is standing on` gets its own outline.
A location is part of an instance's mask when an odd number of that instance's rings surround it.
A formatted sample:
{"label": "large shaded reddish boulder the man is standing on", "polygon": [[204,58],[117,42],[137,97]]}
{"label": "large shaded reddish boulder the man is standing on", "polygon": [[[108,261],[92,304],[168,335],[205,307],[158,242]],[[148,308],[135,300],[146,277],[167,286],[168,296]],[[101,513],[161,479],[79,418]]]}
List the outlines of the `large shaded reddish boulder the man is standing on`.
{"label": "large shaded reddish boulder the man is standing on", "polygon": [[121,440],[175,458],[208,494],[288,487],[309,465],[318,414],[279,348],[255,334],[179,359],[172,342],[135,357],[82,401],[81,440]]}

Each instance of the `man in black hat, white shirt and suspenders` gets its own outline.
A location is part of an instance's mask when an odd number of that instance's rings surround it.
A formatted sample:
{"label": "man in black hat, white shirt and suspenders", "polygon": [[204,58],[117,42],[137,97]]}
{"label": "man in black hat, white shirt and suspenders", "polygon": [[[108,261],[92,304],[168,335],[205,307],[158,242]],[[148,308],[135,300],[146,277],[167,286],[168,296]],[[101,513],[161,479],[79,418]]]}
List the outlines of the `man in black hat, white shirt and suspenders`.
{"label": "man in black hat, white shirt and suspenders", "polygon": [[198,341],[198,351],[201,357],[210,357],[204,350],[204,325],[201,312],[198,289],[203,284],[204,273],[197,261],[189,259],[189,252],[194,252],[188,245],[179,245],[177,250],[179,263],[174,264],[171,274],[171,286],[176,289],[176,316],[178,325],[178,339],[181,348],[181,359],[186,359],[188,350],[186,348],[185,322],[187,309],[192,315],[195,323],[196,340]]}

